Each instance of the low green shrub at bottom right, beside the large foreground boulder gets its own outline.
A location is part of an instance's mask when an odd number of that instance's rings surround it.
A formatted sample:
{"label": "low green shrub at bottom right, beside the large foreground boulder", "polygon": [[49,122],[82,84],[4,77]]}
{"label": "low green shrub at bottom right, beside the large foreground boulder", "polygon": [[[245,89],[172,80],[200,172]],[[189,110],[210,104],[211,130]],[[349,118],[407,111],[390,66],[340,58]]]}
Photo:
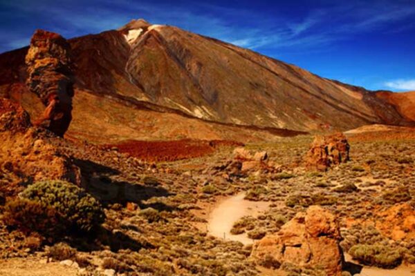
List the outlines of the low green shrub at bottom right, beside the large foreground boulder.
{"label": "low green shrub at bottom right, beside the large foreground boulder", "polygon": [[395,268],[402,262],[399,250],[378,244],[357,244],[350,248],[349,254],[362,264],[380,268]]}

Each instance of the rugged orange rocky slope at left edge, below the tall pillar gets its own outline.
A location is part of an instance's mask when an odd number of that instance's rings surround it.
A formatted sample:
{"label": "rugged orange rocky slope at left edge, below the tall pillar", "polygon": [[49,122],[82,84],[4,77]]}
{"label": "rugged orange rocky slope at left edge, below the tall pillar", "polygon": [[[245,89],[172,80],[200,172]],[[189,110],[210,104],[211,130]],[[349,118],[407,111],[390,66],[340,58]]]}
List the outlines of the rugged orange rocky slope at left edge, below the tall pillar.
{"label": "rugged orange rocky slope at left edge, below the tall pillar", "polygon": [[62,179],[80,184],[80,170],[53,144],[56,137],[31,126],[28,113],[8,99],[0,99],[0,176],[12,183],[0,185],[0,193],[16,195],[21,184]]}

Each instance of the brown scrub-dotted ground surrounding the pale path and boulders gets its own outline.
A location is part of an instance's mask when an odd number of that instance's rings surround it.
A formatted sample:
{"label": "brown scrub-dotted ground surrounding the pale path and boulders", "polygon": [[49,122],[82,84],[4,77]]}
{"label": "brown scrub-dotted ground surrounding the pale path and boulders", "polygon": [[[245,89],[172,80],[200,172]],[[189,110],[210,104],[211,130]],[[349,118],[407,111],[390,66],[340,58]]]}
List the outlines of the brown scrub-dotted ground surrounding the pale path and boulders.
{"label": "brown scrub-dotted ground surrounding the pale path and boulders", "polygon": [[[234,159],[232,147],[149,164],[117,148],[49,139],[48,144],[80,168],[82,185],[100,199],[107,214],[96,239],[63,241],[75,248],[77,253],[70,258],[85,266],[82,275],[93,275],[98,268],[120,275],[266,275],[270,268],[261,268],[249,257],[250,246],[210,237],[205,228],[194,226],[206,223],[206,216],[195,210],[207,213],[216,200],[245,192],[246,199],[270,202],[265,213],[238,224],[239,232],[249,237],[277,233],[295,214],[320,205],[339,218],[345,253],[353,246],[383,246],[396,256],[396,264],[412,266],[415,140],[348,137],[351,161],[326,172],[303,167],[313,139],[309,135],[247,144],[250,152],[266,150],[267,166],[278,167],[247,171],[226,166]],[[2,186],[12,181],[1,171]],[[403,204],[405,211],[395,211]],[[394,212],[402,220],[388,224]],[[10,257],[48,254],[45,244],[33,247],[33,237],[10,232],[6,226],[1,226],[0,244],[6,263]],[[321,275],[321,270],[284,264],[278,273]]]}

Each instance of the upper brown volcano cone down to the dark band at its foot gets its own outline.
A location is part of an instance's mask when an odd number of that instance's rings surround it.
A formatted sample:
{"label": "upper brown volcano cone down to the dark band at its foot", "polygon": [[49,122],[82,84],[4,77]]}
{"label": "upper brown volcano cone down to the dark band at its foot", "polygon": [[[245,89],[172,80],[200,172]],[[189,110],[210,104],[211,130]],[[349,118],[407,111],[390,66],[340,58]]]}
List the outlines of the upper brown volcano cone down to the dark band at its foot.
{"label": "upper brown volcano cone down to the dark band at its foot", "polygon": [[[414,124],[408,108],[403,112],[400,101],[387,99],[383,91],[326,79],[173,26],[138,20],[68,41],[77,90],[118,97],[137,108],[229,126],[299,132]],[[26,51],[0,55],[3,94],[26,80]]]}

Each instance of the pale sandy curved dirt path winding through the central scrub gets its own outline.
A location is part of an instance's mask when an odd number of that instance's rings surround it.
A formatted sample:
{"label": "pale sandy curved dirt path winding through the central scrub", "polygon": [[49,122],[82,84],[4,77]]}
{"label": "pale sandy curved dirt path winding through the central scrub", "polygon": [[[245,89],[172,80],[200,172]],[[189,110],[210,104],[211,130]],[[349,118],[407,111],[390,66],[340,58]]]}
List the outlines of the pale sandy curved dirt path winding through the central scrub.
{"label": "pale sandy curved dirt path winding through the central scrub", "polygon": [[235,221],[241,217],[252,215],[256,216],[264,212],[270,206],[270,202],[249,201],[243,199],[245,193],[239,193],[219,202],[212,210],[208,219],[208,233],[214,237],[238,241],[243,244],[252,244],[252,239],[246,233],[232,235],[230,229]]}

